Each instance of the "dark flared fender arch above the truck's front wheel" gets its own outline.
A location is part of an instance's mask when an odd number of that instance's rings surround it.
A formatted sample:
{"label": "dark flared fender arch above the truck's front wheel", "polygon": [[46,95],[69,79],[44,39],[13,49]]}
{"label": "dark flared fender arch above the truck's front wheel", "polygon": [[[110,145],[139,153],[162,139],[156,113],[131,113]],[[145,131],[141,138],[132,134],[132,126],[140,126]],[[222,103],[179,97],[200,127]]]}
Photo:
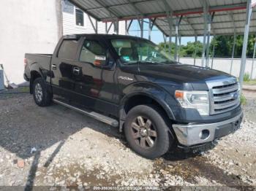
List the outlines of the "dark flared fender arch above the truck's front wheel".
{"label": "dark flared fender arch above the truck's front wheel", "polygon": [[[175,116],[173,114],[171,106],[176,105],[176,100],[162,87],[148,82],[133,83],[132,85],[124,88],[123,95],[124,97],[121,99],[120,111],[123,110],[124,104],[132,96],[145,95],[149,98],[152,98],[154,101],[157,101],[157,103],[165,110],[170,120],[175,120]],[[122,114],[120,115],[120,117],[121,116]]]}

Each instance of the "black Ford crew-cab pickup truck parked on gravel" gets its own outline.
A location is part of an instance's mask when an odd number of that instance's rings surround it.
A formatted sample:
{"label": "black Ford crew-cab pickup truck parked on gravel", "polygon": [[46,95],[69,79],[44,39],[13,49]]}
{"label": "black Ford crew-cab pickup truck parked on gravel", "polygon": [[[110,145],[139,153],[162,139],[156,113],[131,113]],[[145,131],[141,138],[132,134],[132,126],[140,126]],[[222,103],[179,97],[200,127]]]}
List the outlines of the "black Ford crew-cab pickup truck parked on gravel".
{"label": "black Ford crew-cab pickup truck parked on gravel", "polygon": [[135,36],[64,36],[53,55],[26,54],[25,63],[37,105],[54,101],[118,127],[151,159],[233,133],[243,117],[236,77],[177,63]]}

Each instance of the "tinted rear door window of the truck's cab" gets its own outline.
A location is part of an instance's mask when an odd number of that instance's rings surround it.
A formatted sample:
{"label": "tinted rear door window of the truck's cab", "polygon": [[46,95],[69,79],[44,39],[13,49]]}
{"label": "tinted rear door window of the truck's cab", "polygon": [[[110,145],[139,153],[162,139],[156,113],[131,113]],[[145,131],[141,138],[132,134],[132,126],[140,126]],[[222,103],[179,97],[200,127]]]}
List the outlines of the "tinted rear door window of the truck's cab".
{"label": "tinted rear door window of the truck's cab", "polygon": [[59,58],[74,60],[77,54],[78,41],[77,40],[64,40],[59,49]]}

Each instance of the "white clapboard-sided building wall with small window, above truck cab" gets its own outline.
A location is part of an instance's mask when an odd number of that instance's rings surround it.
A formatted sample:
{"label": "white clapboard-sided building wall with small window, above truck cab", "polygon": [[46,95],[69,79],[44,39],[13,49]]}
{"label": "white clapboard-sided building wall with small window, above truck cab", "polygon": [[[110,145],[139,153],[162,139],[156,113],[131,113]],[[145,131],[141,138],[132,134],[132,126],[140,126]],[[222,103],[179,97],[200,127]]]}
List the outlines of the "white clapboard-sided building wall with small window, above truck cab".
{"label": "white clapboard-sided building wall with small window, above truck cab", "polygon": [[[62,1],[62,15],[63,15],[63,34],[94,34],[94,28],[91,26],[89,16],[83,13],[84,26],[77,26],[75,22],[75,6],[72,6],[69,1]],[[91,17],[93,23],[96,21]],[[108,23],[110,26],[110,23]],[[98,22],[98,33],[105,34],[105,23]],[[109,34],[114,33],[114,27],[110,28]],[[119,22],[119,34],[125,34],[125,22]]]}

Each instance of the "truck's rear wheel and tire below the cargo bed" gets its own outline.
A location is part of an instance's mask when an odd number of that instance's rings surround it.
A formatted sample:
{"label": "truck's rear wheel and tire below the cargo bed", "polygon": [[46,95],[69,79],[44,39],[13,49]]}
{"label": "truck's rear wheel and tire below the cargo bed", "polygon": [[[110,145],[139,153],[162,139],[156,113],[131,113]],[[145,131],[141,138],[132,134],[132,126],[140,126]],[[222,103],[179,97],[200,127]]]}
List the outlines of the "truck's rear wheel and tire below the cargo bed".
{"label": "truck's rear wheel and tire below the cargo bed", "polygon": [[47,90],[44,79],[37,78],[34,80],[33,96],[38,106],[49,106],[51,104],[53,95]]}

